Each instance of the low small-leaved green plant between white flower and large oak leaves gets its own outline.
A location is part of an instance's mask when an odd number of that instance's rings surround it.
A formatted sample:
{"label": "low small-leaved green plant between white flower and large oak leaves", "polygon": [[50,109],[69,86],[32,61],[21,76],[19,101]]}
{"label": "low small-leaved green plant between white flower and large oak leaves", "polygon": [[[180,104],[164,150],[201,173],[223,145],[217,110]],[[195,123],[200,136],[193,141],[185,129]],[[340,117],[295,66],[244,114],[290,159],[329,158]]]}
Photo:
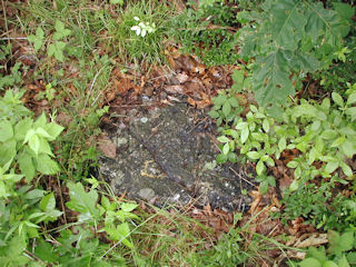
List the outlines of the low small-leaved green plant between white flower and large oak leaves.
{"label": "low small-leaved green plant between white flower and large oak leaves", "polygon": [[235,63],[238,33],[229,29],[236,23],[234,9],[221,1],[190,4],[172,21],[171,34],[182,51],[197,55],[207,66]]}

